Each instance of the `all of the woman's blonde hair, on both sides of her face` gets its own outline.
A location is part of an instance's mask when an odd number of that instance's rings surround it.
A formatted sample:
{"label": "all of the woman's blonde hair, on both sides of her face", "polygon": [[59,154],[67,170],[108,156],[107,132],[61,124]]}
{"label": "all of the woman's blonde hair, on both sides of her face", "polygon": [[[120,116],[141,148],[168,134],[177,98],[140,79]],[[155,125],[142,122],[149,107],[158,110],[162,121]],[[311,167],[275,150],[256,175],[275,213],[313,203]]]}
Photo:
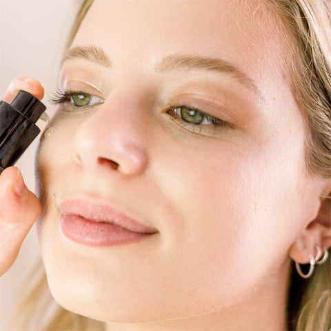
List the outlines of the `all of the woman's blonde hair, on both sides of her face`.
{"label": "all of the woman's blonde hair, on both sides of her face", "polygon": [[[83,1],[67,48],[92,2]],[[265,0],[265,3],[281,17],[292,51],[285,70],[308,128],[305,168],[310,174],[331,179],[331,1]],[[105,323],[69,312],[55,303],[42,261],[32,270],[21,292],[9,330],[106,330]],[[290,330],[331,330],[331,259],[318,265],[308,280],[301,279],[292,266],[288,323]]]}

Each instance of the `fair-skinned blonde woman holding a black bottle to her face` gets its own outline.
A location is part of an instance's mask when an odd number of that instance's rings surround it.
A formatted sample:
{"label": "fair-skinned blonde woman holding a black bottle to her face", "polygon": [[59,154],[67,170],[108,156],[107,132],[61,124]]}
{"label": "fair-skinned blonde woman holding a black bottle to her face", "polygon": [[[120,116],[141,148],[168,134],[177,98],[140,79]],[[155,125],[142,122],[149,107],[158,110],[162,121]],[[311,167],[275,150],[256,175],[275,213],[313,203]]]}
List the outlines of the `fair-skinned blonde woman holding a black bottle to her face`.
{"label": "fair-skinned blonde woman holding a black bottle to her face", "polygon": [[[331,328],[330,12],[83,3],[37,154],[43,265],[63,308],[34,330]],[[16,79],[5,99],[19,89],[43,96]],[[39,202],[17,168],[0,181],[18,246]]]}

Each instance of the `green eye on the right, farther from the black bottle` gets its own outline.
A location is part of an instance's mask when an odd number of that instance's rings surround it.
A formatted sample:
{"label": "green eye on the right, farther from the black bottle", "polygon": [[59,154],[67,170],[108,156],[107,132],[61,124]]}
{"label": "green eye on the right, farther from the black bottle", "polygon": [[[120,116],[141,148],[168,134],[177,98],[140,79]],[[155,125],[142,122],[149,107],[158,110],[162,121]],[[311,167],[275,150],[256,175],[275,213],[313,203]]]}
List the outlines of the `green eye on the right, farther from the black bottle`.
{"label": "green eye on the right, farther from the black bottle", "polygon": [[230,123],[205,114],[197,108],[176,106],[168,109],[167,112],[173,117],[174,121],[194,132],[200,133],[202,130],[214,132],[221,128],[230,128]]}

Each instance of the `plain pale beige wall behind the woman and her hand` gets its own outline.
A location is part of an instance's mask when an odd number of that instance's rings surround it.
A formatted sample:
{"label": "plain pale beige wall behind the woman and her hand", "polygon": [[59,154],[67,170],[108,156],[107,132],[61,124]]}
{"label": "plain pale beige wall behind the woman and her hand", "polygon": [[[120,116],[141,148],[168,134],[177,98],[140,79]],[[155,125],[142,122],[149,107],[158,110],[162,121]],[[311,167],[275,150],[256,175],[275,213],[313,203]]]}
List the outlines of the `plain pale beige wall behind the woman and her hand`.
{"label": "plain pale beige wall behind the woman and her hand", "polygon": [[[79,0],[0,0],[0,97],[12,77],[25,75],[41,81],[46,90],[43,102],[48,106],[47,99],[56,87],[63,41],[78,3]],[[32,192],[34,154],[39,137],[17,163]],[[4,330],[3,323],[17,290],[39,254],[33,226],[17,261],[0,278],[0,330]]]}

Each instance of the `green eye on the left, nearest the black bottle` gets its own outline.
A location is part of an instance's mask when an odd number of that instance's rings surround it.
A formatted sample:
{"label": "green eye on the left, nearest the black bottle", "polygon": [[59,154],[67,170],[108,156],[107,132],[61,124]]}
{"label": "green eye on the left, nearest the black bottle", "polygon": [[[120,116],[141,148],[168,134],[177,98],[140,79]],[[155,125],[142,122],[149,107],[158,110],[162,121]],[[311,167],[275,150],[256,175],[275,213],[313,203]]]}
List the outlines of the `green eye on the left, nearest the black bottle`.
{"label": "green eye on the left, nearest the black bottle", "polygon": [[59,104],[66,102],[71,103],[74,107],[86,107],[98,103],[103,103],[105,101],[99,97],[96,97],[95,95],[91,95],[86,92],[55,90],[53,93],[53,99],[50,99],[50,103]]}

